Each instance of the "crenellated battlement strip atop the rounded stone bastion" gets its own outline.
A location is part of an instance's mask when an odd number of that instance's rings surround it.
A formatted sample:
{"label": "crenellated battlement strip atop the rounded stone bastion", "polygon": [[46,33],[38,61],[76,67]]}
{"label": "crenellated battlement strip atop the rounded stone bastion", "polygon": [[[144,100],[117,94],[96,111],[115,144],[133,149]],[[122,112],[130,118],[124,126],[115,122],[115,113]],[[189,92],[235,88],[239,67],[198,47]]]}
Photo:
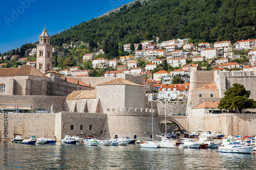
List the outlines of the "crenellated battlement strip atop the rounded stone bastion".
{"label": "crenellated battlement strip atop the rounded stone bastion", "polygon": [[149,108],[107,108],[106,114],[108,115],[156,115],[156,112],[154,109]]}

